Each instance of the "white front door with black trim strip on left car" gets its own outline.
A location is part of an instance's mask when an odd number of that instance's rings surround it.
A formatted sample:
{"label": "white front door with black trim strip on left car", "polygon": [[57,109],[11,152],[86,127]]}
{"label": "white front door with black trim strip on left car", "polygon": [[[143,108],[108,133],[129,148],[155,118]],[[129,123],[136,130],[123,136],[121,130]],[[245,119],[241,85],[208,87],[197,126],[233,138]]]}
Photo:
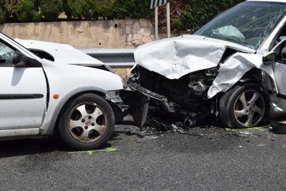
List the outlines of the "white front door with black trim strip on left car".
{"label": "white front door with black trim strip on left car", "polygon": [[15,67],[17,50],[0,39],[0,131],[39,128],[46,113],[47,85],[41,67]]}

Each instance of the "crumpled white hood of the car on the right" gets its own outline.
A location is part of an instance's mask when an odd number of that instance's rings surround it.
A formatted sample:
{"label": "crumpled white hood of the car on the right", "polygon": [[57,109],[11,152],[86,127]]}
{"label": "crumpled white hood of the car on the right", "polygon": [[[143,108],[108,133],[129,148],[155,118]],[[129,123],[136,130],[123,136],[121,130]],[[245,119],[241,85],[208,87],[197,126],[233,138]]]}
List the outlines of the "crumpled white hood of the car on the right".
{"label": "crumpled white hood of the car on the right", "polygon": [[231,42],[183,35],[144,44],[136,49],[134,57],[135,62],[145,69],[173,80],[217,66],[227,47],[254,53],[247,47]]}

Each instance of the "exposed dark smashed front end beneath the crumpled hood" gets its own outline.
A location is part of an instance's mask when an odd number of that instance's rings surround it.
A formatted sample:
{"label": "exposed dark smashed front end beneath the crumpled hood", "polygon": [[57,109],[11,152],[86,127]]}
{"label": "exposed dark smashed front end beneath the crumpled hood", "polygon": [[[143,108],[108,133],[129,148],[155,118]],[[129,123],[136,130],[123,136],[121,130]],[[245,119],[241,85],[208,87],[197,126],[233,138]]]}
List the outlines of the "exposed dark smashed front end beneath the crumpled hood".
{"label": "exposed dark smashed front end beneath the crumpled hood", "polygon": [[145,102],[149,102],[149,110],[163,110],[180,113],[187,118],[202,119],[213,111],[213,103],[207,98],[207,92],[217,74],[218,66],[170,80],[137,65],[131,71],[128,87],[143,95]]}

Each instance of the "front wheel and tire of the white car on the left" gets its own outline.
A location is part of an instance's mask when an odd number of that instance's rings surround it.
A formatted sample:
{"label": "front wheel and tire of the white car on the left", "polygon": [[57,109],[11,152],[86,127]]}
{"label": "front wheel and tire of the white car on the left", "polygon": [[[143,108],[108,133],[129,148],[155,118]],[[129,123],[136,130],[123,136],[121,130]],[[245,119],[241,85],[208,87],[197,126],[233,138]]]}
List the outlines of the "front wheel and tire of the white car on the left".
{"label": "front wheel and tire of the white car on the left", "polygon": [[59,134],[69,147],[97,149],[111,138],[115,116],[104,98],[86,93],[68,102],[62,111]]}

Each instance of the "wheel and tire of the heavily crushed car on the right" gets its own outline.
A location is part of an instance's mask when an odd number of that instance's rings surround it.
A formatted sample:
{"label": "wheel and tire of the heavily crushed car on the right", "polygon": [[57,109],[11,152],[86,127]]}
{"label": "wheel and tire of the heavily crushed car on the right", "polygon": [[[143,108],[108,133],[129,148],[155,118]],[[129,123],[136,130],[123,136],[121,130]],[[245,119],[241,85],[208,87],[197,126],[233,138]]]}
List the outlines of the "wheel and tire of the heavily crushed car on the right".
{"label": "wheel and tire of the heavily crushed car on the right", "polygon": [[269,99],[255,82],[238,84],[220,99],[219,118],[228,127],[260,125],[269,115]]}

